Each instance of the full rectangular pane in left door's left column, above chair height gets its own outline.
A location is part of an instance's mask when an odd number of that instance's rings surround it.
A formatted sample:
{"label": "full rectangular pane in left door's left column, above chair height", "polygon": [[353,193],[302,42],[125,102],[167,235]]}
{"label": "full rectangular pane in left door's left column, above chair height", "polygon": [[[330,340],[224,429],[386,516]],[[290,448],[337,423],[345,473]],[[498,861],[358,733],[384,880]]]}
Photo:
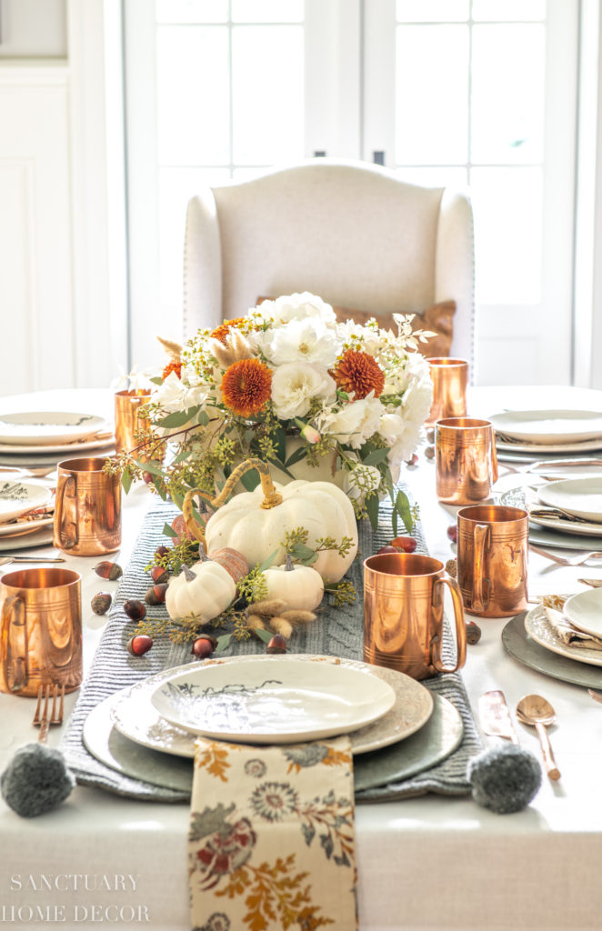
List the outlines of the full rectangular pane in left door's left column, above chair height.
{"label": "full rectangular pane in left door's left column, above chair height", "polygon": [[159,164],[229,163],[228,88],[226,26],[157,28]]}

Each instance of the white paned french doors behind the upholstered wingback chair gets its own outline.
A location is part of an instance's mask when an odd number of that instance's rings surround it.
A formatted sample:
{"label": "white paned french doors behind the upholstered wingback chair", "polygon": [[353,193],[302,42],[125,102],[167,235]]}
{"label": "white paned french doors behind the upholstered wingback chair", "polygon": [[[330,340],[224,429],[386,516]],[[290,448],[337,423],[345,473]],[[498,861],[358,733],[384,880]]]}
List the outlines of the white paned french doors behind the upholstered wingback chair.
{"label": "white paned french doors behind the upholstered wingback chair", "polygon": [[133,360],[179,335],[188,197],[330,155],[468,188],[477,384],[570,382],[578,0],[125,12]]}

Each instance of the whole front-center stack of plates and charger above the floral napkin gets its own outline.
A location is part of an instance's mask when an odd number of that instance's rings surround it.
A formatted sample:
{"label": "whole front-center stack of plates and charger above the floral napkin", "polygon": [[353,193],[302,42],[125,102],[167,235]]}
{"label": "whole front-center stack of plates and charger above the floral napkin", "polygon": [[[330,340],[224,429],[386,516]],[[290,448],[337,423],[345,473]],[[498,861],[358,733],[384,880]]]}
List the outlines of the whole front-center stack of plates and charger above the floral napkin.
{"label": "whole front-center stack of plates and charger above the floral napkin", "polygon": [[[376,771],[356,766],[356,788],[368,788],[445,759],[463,725],[450,702],[394,669],[332,656],[252,655],[187,664],[128,686],[94,708],[83,739],[124,775],[187,790],[198,735],[262,745],[342,734],[354,755],[381,751]],[[398,745],[407,752],[383,756]]]}

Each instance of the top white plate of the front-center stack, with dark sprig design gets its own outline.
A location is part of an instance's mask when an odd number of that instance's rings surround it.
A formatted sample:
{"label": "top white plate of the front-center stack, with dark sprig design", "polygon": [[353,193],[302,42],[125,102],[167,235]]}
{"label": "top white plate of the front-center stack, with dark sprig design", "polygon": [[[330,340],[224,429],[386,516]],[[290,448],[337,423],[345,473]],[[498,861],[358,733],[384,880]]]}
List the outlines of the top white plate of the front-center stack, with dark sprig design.
{"label": "top white plate of the front-center stack, with dark sprig design", "polygon": [[258,744],[349,734],[395,703],[387,682],[360,669],[253,659],[185,669],[157,686],[151,703],[185,731]]}

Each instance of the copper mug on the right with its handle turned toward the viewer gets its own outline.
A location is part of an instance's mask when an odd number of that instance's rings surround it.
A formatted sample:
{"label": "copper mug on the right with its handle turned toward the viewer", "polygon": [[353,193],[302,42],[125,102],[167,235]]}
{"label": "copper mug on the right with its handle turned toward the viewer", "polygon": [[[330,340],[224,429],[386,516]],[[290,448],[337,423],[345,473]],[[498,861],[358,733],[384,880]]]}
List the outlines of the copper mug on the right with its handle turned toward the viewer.
{"label": "copper mug on the right with its handle turned toward the viewer", "polygon": [[527,609],[528,514],[481,505],[458,511],[458,585],[464,608],[481,617]]}

